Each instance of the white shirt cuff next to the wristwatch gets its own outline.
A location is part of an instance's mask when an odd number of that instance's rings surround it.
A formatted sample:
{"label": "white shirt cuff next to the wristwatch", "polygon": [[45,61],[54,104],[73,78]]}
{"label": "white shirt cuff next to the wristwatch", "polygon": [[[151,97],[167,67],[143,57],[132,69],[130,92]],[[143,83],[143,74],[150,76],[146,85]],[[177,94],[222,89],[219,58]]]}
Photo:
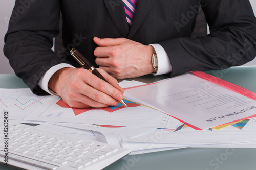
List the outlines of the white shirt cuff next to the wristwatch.
{"label": "white shirt cuff next to the wristwatch", "polygon": [[172,72],[173,70],[172,64],[170,63],[169,57],[165,52],[164,48],[159,44],[150,44],[150,45],[154,47],[157,53],[157,60],[158,60],[158,70],[157,70],[157,73],[153,75],[157,76],[157,75],[163,75],[163,74]]}

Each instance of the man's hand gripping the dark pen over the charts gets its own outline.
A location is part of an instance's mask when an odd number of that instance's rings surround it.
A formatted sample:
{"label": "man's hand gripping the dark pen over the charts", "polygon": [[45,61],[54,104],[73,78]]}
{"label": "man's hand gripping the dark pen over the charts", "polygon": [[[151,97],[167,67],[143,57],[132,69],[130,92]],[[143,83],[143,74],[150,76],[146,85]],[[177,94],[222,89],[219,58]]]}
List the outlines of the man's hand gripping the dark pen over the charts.
{"label": "man's hand gripping the dark pen over the charts", "polygon": [[87,69],[66,67],[55,72],[48,87],[61,96],[70,107],[117,106],[123,99],[124,90],[118,85],[117,80],[103,69],[97,70],[109,83]]}

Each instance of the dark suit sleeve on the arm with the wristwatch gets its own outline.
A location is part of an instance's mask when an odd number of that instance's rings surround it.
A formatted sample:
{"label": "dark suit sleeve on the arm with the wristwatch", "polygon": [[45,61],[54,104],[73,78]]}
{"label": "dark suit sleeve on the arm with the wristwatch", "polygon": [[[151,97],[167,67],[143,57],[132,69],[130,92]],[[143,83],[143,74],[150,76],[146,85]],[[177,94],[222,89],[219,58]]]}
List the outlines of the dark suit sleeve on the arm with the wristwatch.
{"label": "dark suit sleeve on the arm with the wristwatch", "polygon": [[209,35],[159,43],[172,64],[170,76],[238,66],[256,56],[256,19],[249,0],[202,0],[201,6]]}

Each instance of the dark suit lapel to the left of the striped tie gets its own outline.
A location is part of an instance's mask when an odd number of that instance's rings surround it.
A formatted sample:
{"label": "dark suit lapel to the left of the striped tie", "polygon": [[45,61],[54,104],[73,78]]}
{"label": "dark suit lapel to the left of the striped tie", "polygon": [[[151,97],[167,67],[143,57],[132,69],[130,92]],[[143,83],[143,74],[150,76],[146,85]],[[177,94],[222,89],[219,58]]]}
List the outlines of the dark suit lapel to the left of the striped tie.
{"label": "dark suit lapel to the left of the striped tie", "polygon": [[127,25],[122,0],[104,0],[104,2],[120,34],[122,37],[127,37],[129,28]]}

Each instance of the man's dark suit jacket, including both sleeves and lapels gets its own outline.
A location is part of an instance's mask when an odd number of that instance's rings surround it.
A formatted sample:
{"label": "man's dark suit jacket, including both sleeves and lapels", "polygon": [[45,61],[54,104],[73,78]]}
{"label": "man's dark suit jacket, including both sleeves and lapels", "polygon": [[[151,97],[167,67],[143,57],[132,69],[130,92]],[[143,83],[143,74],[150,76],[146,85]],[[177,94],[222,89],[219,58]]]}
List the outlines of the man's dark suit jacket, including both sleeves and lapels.
{"label": "man's dark suit jacket, including both sleeves and lapels", "polygon": [[[191,38],[201,3],[210,34]],[[63,54],[51,50],[63,15]],[[191,70],[215,70],[244,64],[256,56],[256,19],[249,0],[139,0],[129,30],[121,0],[16,1],[4,53],[16,75],[36,94],[42,75],[59,63],[78,63],[76,47],[95,64],[93,37],[125,37],[163,46],[176,76]]]}

